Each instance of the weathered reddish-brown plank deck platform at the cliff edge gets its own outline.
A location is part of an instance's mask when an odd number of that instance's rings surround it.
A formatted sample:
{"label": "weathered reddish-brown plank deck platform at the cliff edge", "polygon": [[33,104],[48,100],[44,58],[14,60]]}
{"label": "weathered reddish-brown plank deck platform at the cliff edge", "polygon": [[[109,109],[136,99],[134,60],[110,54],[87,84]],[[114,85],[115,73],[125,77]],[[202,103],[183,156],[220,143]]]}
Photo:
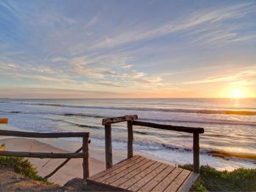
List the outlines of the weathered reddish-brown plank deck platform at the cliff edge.
{"label": "weathered reddish-brown plank deck platform at the cliff edge", "polygon": [[134,156],[88,177],[88,185],[117,191],[188,191],[199,174]]}

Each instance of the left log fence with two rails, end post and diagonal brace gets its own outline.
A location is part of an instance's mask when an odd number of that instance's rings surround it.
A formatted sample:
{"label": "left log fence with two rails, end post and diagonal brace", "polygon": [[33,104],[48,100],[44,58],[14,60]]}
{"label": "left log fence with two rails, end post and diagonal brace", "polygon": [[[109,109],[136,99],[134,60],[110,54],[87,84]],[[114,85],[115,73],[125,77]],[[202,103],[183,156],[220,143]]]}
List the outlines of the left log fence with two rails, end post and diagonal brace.
{"label": "left log fence with two rails, end post and diagonal brace", "polygon": [[[54,153],[54,152],[16,152],[16,151],[0,151],[0,156],[12,156],[12,157],[31,157],[31,158],[67,158],[65,162],[54,169],[48,176],[51,177],[62,166],[64,166],[71,158],[83,158],[83,178],[89,177],[89,132],[61,132],[61,133],[34,133],[34,132],[21,132],[15,130],[0,130],[1,136],[12,137],[29,137],[29,138],[68,138],[68,137],[82,137],[83,144],[74,153]],[[79,153],[82,151],[81,153]]]}

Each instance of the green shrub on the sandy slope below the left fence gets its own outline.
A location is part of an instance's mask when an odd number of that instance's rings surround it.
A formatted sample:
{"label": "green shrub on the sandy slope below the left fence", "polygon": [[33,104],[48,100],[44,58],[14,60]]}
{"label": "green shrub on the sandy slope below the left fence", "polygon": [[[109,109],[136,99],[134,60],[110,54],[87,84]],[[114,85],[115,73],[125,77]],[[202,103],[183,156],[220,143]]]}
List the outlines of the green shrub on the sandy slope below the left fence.
{"label": "green shrub on the sandy slope below the left fence", "polygon": [[23,174],[24,176],[29,177],[30,179],[42,181],[48,185],[52,183],[47,179],[44,179],[37,174],[37,168],[33,168],[32,163],[28,160],[25,160],[22,157],[0,157],[0,165],[7,168],[12,168],[15,172]]}

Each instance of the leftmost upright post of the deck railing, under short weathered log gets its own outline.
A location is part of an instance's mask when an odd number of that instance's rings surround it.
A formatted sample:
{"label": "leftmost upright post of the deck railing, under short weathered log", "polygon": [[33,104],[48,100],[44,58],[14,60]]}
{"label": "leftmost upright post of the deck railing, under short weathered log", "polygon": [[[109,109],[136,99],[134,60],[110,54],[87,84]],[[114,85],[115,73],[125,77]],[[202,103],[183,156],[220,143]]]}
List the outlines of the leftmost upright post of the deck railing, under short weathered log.
{"label": "leftmost upright post of the deck railing, under short weathered log", "polygon": [[111,168],[113,166],[111,124],[105,125],[105,161],[106,169]]}

